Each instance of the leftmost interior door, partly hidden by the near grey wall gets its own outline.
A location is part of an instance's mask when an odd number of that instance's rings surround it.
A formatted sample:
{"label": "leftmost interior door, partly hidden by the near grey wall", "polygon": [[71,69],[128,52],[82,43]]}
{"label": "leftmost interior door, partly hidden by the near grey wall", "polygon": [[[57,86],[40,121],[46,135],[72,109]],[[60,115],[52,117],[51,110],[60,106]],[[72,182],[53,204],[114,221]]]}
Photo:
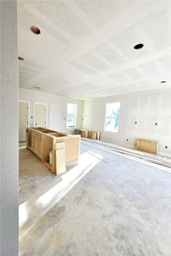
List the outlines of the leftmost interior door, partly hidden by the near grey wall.
{"label": "leftmost interior door, partly hidden by the near grey wall", "polygon": [[28,127],[28,103],[19,102],[19,142],[26,141]]}

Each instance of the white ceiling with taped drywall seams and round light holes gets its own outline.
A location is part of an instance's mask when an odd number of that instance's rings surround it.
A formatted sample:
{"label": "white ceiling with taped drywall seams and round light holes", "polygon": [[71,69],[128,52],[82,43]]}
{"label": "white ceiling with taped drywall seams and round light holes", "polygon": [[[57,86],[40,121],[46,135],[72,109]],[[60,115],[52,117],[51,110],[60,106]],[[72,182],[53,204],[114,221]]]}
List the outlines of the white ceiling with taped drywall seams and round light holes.
{"label": "white ceiling with taped drywall seams and round light holes", "polygon": [[170,1],[17,2],[19,87],[83,100],[170,88]]}

